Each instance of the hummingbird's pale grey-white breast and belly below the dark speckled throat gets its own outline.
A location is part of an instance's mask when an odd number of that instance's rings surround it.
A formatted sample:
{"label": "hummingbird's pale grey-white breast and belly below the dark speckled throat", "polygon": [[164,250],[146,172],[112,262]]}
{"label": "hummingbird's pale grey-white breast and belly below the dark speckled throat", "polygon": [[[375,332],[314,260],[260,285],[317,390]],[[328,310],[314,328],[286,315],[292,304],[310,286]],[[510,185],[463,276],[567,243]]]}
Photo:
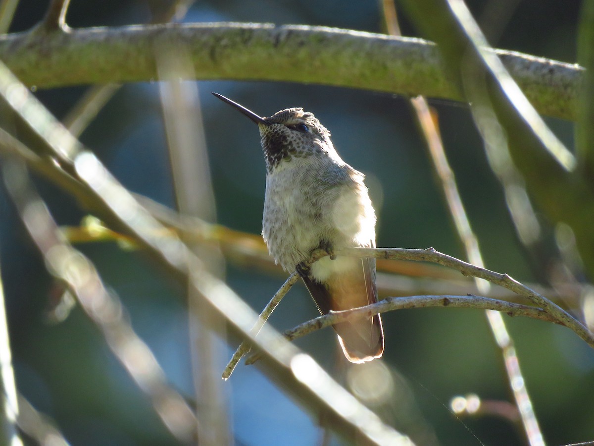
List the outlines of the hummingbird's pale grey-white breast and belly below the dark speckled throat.
{"label": "hummingbird's pale grey-white breast and belly below the dark speckled throat", "polygon": [[[277,263],[293,271],[312,250],[329,246],[375,246],[375,212],[364,175],[340,158],[304,156],[281,162],[266,177],[263,236]],[[336,272],[361,268],[360,259],[329,257],[311,275],[325,281]]]}

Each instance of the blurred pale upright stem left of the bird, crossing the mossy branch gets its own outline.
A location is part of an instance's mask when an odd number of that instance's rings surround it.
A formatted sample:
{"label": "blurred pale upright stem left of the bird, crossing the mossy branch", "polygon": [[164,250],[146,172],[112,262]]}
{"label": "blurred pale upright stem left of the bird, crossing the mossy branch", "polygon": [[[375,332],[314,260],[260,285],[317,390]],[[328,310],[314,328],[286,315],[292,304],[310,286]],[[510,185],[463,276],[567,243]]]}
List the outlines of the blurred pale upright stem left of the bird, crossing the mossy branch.
{"label": "blurred pale upright stem left of the bird, crossing the mossy branch", "polygon": [[[194,77],[188,63],[188,49],[182,45],[175,48],[157,45],[155,53],[178,210],[202,221],[214,221],[214,192],[198,86],[196,82],[185,81]],[[184,237],[182,240],[207,265],[211,274],[222,276],[224,263],[219,246],[192,243]],[[203,446],[229,444],[229,404],[218,371],[222,349],[217,348],[217,343],[222,341],[218,338],[225,338],[225,325],[213,317],[211,310],[195,294],[195,289],[188,287],[189,354],[197,401],[196,415],[200,422],[198,442]]]}

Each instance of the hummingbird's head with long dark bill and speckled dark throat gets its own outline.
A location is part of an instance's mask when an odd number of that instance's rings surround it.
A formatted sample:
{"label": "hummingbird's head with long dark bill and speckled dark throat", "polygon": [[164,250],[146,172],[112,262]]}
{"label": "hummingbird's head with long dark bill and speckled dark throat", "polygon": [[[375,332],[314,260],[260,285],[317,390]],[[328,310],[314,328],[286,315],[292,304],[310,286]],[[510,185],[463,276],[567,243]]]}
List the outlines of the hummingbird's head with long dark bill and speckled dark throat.
{"label": "hummingbird's head with long dark bill and speckled dark throat", "polygon": [[330,132],[314,114],[304,112],[302,108],[287,108],[263,118],[225,96],[218,93],[213,95],[258,124],[268,173],[293,158],[308,156],[327,156],[337,164],[344,164],[334,150]]}

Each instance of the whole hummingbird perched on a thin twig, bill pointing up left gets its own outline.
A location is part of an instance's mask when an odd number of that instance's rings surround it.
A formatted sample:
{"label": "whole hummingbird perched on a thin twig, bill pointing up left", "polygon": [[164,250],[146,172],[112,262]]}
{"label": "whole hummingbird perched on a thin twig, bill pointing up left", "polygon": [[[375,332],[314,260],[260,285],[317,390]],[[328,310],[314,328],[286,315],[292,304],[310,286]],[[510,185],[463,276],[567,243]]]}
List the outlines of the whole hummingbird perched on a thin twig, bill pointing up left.
{"label": "whole hummingbird perched on a thin twig, bill pointing up left", "polygon": [[[365,176],[340,158],[330,132],[311,112],[287,108],[265,118],[213,95],[260,130],[266,161],[262,235],[276,263],[298,272],[322,314],[377,302],[375,259],[333,255],[347,247],[375,247],[375,211]],[[329,256],[306,268],[304,262],[317,249]],[[350,362],[382,356],[380,315],[333,328]]]}

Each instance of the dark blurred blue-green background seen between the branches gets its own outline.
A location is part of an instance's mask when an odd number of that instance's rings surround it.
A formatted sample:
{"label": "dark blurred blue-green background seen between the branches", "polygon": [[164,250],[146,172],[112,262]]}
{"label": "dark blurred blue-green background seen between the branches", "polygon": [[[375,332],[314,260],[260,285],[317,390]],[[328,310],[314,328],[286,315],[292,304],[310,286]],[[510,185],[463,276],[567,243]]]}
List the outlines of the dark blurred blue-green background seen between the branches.
{"label": "dark blurred blue-green background seen between the branches", "polygon": [[[147,23],[151,6],[158,3],[72,0],[67,23],[71,27]],[[580,2],[474,0],[467,4],[481,23],[497,30],[500,37],[491,42],[497,48],[576,61]],[[21,0],[11,31],[29,29],[47,7],[45,1]],[[405,17],[400,20],[403,34],[416,35]],[[384,32],[381,5],[372,1],[197,1],[184,21],[310,24]],[[404,98],[290,83],[199,81],[197,87],[219,224],[260,234],[266,169],[257,129],[211,96],[211,91],[264,116],[292,106],[314,112],[331,131],[342,158],[366,174],[378,215],[378,246],[432,246],[465,257]],[[81,86],[35,94],[62,118],[85,90]],[[520,281],[539,281],[542,265],[533,262],[517,240],[469,109],[446,100],[430,103],[438,111],[445,150],[486,267]],[[572,123],[546,121],[573,147]],[[122,87],[84,131],[81,141],[124,186],[175,207],[158,83]],[[85,213],[74,200],[42,180],[36,179],[36,184],[59,224],[80,223]],[[175,444],[152,412],[150,401],[114,359],[80,308],[75,307],[59,323],[48,318],[48,310],[63,290],[46,272],[3,189],[0,215],[2,279],[18,389],[37,409],[55,419],[73,445]],[[554,228],[543,223],[542,246],[555,252]],[[149,344],[169,381],[192,398],[187,309],[179,289],[140,252],[122,250],[116,243],[77,247],[93,260],[105,283],[122,300],[132,326]],[[225,277],[260,311],[286,274],[228,263]],[[315,316],[317,309],[305,287],[298,284],[271,323],[283,330]],[[365,384],[358,378],[361,373],[386,383],[386,388],[366,403],[418,444],[525,444],[516,426],[507,420],[464,417],[463,424],[448,409],[451,398],[470,393],[485,400],[512,401],[500,352],[483,312],[403,310],[386,313],[383,321],[386,353],[381,363],[367,368],[345,365],[330,329],[297,344],[355,394],[369,394],[361,387]],[[577,335],[559,326],[530,319],[505,321],[516,342],[546,442],[593,441],[594,352]],[[217,341],[216,347],[222,370],[235,344],[229,347]],[[323,441],[319,420],[304,413],[257,368],[239,366],[223,388],[236,444],[311,445]]]}

